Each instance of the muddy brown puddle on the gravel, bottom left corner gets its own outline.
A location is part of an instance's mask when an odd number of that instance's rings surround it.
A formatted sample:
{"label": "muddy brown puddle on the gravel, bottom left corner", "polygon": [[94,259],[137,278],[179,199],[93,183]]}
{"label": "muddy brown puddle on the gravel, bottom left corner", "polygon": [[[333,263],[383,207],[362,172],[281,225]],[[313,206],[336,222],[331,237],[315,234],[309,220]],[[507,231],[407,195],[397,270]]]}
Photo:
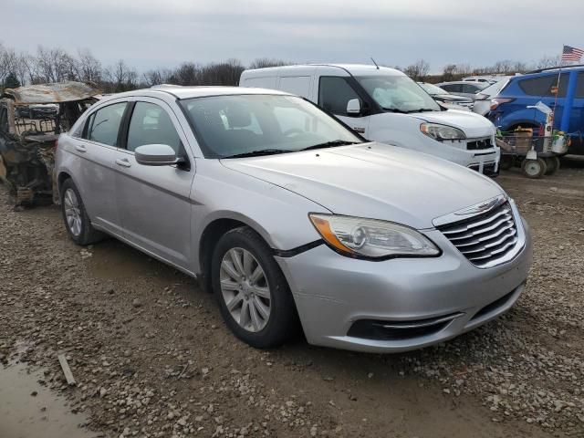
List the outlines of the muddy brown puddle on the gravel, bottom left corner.
{"label": "muddy brown puddle on the gravel, bottom left corner", "polygon": [[42,379],[42,372],[28,372],[23,363],[0,365],[1,438],[103,436],[79,428],[87,418],[71,412],[63,397],[38,383]]}

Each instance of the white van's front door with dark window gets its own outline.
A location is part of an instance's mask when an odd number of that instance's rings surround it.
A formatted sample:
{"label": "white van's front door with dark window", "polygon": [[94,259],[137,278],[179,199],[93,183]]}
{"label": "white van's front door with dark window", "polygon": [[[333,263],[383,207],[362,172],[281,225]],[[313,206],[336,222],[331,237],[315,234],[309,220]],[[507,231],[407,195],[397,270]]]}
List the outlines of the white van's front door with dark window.
{"label": "white van's front door with dark window", "polygon": [[364,110],[364,101],[350,83],[349,77],[318,77],[318,106],[333,113],[355,132],[369,138],[369,116],[347,114],[347,104],[351,99],[359,99],[361,110]]}

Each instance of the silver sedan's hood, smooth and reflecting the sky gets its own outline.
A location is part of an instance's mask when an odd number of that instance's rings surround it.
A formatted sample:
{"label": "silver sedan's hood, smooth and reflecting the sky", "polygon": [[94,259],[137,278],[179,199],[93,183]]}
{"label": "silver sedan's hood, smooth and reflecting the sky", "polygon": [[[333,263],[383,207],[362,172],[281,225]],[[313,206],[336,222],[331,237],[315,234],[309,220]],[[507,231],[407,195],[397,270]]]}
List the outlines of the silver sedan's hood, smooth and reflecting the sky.
{"label": "silver sedan's hood, smooth and reflecting the sky", "polygon": [[433,227],[435,217],[503,193],[478,172],[375,142],[222,163],[306,197],[332,213],[418,229]]}

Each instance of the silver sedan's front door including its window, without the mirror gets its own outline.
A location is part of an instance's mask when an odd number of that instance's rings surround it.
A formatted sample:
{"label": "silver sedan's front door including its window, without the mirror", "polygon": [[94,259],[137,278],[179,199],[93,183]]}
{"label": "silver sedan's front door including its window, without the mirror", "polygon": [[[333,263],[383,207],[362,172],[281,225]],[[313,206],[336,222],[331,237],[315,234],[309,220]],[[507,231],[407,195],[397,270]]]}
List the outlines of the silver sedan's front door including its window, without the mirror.
{"label": "silver sedan's front door including its window, without the mirror", "polygon": [[[118,151],[116,203],[124,237],[130,243],[175,266],[191,270],[190,193],[194,161],[171,107],[161,99],[131,103],[124,128],[124,149]],[[166,144],[185,160],[172,166],[136,162],[134,151],[144,144]]]}

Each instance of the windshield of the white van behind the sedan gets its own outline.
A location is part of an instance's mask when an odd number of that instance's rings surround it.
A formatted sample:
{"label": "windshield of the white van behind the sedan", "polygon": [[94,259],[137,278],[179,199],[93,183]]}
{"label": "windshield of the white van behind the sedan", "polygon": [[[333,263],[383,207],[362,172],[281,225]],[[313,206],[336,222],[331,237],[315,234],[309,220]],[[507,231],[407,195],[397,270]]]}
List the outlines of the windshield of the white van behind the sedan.
{"label": "windshield of the white van behind the sedan", "polygon": [[383,110],[440,111],[436,101],[407,76],[364,76],[357,80]]}

